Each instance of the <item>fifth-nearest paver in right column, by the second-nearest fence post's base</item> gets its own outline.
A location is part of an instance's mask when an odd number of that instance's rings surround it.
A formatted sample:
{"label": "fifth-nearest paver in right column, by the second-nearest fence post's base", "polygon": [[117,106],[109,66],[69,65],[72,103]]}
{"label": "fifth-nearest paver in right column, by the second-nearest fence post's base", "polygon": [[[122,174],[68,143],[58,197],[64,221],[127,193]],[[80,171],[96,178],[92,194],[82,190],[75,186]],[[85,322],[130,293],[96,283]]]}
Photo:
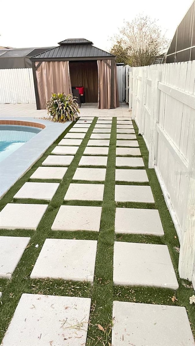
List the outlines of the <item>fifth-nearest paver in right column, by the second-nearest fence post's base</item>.
{"label": "fifth-nearest paver in right column, by the second-nearest fence post's base", "polygon": [[134,181],[134,182],[148,182],[147,173],[145,170],[117,170],[115,171],[116,181]]}

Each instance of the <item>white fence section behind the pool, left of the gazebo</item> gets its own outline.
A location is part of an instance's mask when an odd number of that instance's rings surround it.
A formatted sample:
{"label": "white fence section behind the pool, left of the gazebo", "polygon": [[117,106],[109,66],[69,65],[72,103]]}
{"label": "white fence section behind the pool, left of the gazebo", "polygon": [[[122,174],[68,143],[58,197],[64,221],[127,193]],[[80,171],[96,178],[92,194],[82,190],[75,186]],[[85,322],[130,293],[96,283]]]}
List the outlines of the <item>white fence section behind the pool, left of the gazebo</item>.
{"label": "white fence section behind the pool, left of the gazebo", "polygon": [[0,103],[36,103],[32,69],[0,69]]}

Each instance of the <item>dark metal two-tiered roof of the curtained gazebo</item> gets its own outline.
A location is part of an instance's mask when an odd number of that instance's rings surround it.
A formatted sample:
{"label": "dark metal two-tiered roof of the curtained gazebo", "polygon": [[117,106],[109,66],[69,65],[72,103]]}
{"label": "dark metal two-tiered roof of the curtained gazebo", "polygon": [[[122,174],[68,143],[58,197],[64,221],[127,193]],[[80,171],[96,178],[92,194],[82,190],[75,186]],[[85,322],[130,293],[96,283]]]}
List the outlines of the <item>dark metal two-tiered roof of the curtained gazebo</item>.
{"label": "dark metal two-tiered roof of the curtained gazebo", "polygon": [[30,58],[31,61],[66,61],[97,60],[100,58],[115,59],[100,48],[92,46],[93,42],[85,38],[69,38],[59,42],[59,46]]}

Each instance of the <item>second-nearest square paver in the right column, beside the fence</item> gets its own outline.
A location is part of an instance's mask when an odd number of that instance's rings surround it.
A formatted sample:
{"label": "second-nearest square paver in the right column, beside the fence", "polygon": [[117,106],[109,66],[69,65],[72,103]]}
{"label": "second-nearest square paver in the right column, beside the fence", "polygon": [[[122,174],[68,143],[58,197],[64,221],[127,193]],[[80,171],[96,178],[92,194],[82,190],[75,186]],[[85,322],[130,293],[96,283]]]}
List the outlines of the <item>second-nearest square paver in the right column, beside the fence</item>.
{"label": "second-nearest square paver in the right column, beside the fence", "polygon": [[113,283],[177,290],[179,285],[167,245],[115,242]]}

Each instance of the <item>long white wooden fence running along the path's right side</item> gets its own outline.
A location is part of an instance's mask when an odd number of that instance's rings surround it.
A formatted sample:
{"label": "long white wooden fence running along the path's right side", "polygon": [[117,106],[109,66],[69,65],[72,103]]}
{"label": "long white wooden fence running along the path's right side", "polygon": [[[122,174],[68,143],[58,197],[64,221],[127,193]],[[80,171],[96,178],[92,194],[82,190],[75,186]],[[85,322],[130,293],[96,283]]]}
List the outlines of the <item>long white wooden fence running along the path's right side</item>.
{"label": "long white wooden fence running along the path's right side", "polygon": [[179,237],[180,277],[195,285],[195,61],[133,67],[129,95]]}

